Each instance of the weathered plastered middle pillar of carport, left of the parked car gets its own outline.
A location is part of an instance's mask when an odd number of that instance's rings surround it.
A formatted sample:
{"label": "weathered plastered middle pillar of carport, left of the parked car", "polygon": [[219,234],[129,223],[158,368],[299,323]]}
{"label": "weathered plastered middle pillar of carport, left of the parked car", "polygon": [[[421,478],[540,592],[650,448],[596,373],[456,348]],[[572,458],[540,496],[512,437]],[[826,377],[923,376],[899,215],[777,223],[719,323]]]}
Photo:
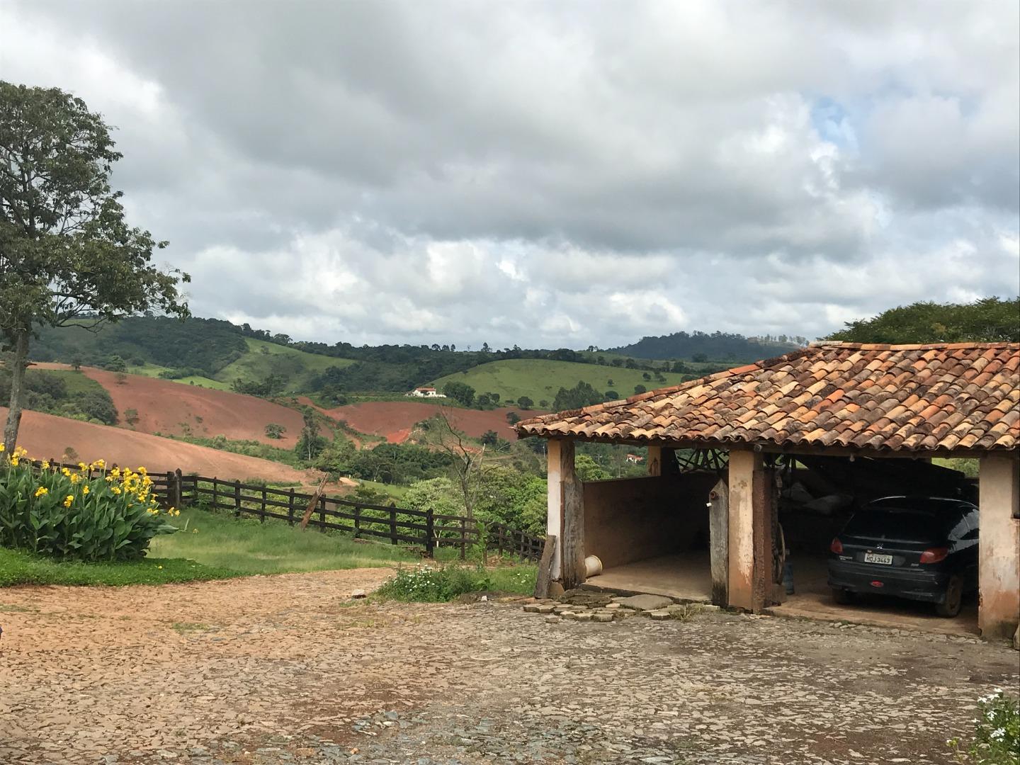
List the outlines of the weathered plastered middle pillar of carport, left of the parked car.
{"label": "weathered plastered middle pillar of carport, left of the parked car", "polygon": [[729,605],[754,608],[755,533],[754,474],[762,470],[755,452],[729,453],[729,528],[726,541]]}

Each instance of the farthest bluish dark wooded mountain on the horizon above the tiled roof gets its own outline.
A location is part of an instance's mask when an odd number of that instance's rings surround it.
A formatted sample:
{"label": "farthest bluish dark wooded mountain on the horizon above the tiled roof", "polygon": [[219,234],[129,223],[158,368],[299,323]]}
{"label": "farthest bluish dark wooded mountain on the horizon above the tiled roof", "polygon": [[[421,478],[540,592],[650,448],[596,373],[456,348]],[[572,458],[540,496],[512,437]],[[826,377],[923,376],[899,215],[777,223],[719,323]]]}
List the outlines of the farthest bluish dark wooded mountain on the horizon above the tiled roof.
{"label": "farthest bluish dark wooded mountain on the horizon above the tiled roof", "polygon": [[613,353],[641,359],[690,359],[692,361],[757,361],[789,353],[805,345],[805,338],[745,338],[729,333],[673,333],[642,338]]}

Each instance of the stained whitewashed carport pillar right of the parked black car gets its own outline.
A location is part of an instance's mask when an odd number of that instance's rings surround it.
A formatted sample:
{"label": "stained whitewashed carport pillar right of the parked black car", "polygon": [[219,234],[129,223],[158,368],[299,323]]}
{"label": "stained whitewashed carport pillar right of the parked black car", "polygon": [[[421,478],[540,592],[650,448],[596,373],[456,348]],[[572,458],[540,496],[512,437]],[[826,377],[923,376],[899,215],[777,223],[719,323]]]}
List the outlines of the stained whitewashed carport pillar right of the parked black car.
{"label": "stained whitewashed carport pillar right of the parked black car", "polygon": [[985,638],[1012,636],[1020,622],[1020,459],[981,458],[978,539],[980,601],[977,625]]}

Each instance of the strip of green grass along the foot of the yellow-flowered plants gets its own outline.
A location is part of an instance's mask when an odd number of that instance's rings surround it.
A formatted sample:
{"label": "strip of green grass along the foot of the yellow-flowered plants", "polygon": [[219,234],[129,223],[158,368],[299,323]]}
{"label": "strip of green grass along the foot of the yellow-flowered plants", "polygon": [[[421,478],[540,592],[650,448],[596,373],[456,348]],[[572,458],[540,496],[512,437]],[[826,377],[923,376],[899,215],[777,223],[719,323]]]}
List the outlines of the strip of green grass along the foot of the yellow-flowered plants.
{"label": "strip of green grass along the foot of the yellow-flowered plants", "polygon": [[[240,575],[239,571],[204,566],[180,558],[146,558],[132,563],[78,563],[0,548],[0,588],[14,584],[166,584]],[[4,610],[2,606],[0,610]]]}

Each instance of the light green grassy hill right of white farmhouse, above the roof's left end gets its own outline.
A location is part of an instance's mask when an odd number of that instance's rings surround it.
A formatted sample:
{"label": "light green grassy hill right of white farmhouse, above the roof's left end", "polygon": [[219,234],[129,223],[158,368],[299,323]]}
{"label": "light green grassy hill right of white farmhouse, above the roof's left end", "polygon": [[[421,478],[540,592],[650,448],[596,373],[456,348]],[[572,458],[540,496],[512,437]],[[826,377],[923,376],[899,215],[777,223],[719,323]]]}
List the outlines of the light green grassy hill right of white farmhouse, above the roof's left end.
{"label": "light green grassy hill right of white farmhouse, above the roof's left end", "polygon": [[[578,380],[590,382],[595,390],[616,391],[622,397],[633,394],[634,386],[643,385],[648,390],[679,385],[681,374],[665,373],[665,382],[657,382],[655,375],[646,380],[638,369],[624,369],[598,364],[580,364],[573,361],[546,361],[544,359],[507,359],[468,369],[466,372],[448,374],[436,380],[437,388],[451,381],[466,382],[478,393],[498,393],[502,399],[516,401],[521,396],[529,397],[538,406],[546,400],[552,405],[560,388],[573,388]],[[609,385],[609,380],[613,385]]]}

